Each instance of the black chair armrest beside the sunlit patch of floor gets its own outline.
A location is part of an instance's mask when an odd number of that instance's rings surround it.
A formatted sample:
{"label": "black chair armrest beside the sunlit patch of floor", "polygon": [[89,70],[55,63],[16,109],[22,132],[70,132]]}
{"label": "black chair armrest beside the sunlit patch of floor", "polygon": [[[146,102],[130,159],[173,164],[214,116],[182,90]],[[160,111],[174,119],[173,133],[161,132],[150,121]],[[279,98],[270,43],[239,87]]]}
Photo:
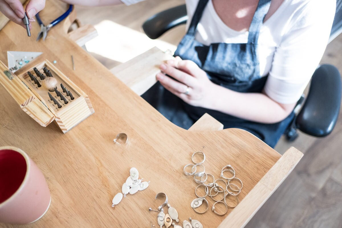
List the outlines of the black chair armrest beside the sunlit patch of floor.
{"label": "black chair armrest beside the sunlit patch of floor", "polygon": [[167,30],[185,24],[187,19],[185,4],[179,5],[148,18],[143,24],[143,29],[149,38],[157,39]]}

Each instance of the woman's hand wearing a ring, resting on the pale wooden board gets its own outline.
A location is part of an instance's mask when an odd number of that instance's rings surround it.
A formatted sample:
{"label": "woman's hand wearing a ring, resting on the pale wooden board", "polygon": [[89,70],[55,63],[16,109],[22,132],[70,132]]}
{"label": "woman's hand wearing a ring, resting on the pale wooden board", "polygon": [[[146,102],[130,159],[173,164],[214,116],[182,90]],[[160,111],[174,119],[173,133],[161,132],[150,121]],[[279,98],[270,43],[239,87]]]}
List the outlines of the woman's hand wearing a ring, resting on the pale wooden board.
{"label": "woman's hand wearing a ring, resting on the pale wooden board", "polygon": [[215,84],[196,63],[177,56],[176,59],[161,64],[160,69],[162,72],[157,74],[157,80],[167,90],[190,105],[211,108]]}

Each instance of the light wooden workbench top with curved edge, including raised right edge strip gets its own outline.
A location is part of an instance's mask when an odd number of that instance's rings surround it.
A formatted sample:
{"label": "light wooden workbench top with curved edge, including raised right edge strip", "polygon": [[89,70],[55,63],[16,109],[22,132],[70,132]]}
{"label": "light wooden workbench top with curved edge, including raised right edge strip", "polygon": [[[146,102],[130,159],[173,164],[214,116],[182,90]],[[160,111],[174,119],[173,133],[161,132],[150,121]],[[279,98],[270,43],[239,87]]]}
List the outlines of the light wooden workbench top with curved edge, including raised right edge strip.
{"label": "light wooden workbench top with curved edge, including raised right edge strip", "polygon": [[[66,8],[47,1],[41,18],[47,23]],[[151,221],[157,227],[157,212],[148,208],[161,204],[155,200],[158,192],[168,195],[180,221],[192,217],[204,227],[218,227],[225,219],[221,227],[244,226],[302,154],[292,148],[281,157],[257,137],[238,129],[201,133],[173,125],[68,38],[67,28],[74,18],[75,13],[52,28],[45,41],[35,41],[37,23],[30,38],[12,22],[0,31],[2,62],[7,63],[6,51],[43,52],[18,73],[45,59],[56,60],[55,66],[89,95],[95,109],[92,116],[63,134],[55,124],[40,126],[0,86],[0,146],[23,149],[46,177],[52,197],[50,209],[38,222],[21,227],[149,227]],[[120,132],[127,133],[127,145],[113,142]],[[206,172],[219,178],[222,167],[231,164],[244,183],[239,199],[246,199],[233,212],[230,209],[229,215],[214,215],[211,199],[203,215],[190,207],[197,184],[183,174],[183,166],[191,163],[192,153],[203,146]],[[113,209],[111,200],[121,192],[131,167],[136,167],[139,177],[150,181],[150,186],[128,195]]]}

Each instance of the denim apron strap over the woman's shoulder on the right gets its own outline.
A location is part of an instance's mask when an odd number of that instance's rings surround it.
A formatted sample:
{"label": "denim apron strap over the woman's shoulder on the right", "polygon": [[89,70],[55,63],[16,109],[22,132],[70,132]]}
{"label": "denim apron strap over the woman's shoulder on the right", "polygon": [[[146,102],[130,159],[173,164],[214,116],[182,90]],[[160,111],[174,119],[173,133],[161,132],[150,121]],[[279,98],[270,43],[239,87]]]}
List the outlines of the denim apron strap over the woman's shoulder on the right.
{"label": "denim apron strap over the woman's shoulder on the right", "polygon": [[257,10],[254,13],[251,25],[248,29],[248,43],[258,43],[259,32],[264,23],[265,16],[271,5],[271,0],[260,0]]}

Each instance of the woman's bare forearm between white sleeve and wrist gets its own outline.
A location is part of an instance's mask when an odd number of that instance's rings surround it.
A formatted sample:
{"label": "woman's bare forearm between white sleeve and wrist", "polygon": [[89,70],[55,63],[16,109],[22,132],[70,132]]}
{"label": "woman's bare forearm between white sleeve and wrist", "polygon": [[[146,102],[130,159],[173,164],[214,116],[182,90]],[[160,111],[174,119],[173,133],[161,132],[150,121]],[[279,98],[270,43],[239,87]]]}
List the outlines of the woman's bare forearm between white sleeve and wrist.
{"label": "woman's bare forearm between white sleeve and wrist", "polygon": [[284,120],[295,104],[279,104],[263,93],[239,93],[213,84],[210,109],[260,123]]}

